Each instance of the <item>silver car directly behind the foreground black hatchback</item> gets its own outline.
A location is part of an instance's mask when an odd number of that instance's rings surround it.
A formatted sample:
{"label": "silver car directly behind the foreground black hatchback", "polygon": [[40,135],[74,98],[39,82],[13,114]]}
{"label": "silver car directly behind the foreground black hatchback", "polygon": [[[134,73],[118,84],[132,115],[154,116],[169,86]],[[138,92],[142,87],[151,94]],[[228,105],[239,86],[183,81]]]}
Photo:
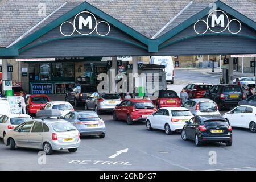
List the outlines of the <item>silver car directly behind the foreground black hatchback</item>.
{"label": "silver car directly behind the foreground black hatchback", "polygon": [[217,104],[207,98],[188,100],[182,107],[190,110],[193,115],[221,115]]}

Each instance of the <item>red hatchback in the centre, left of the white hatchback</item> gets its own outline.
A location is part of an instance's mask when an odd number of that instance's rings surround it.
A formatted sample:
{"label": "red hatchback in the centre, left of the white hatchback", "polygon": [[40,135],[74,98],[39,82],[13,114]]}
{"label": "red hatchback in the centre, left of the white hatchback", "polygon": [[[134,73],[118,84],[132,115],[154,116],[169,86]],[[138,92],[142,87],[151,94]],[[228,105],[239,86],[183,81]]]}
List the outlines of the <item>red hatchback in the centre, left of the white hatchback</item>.
{"label": "red hatchback in the centre, left of the white hatchback", "polygon": [[129,99],[122,101],[113,110],[113,119],[126,120],[128,125],[134,121],[146,121],[148,115],[155,113],[156,108],[152,101],[145,99]]}

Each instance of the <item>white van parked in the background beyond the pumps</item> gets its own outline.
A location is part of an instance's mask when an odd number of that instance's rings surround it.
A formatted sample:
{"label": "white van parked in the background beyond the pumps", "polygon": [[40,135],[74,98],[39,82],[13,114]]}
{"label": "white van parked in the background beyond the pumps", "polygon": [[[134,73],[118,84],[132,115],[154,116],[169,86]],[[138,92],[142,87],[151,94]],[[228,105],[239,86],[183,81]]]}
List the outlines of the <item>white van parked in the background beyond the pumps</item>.
{"label": "white van parked in the background beyond the pumps", "polygon": [[174,62],[171,56],[152,56],[150,64],[164,65],[166,68],[166,81],[174,84]]}

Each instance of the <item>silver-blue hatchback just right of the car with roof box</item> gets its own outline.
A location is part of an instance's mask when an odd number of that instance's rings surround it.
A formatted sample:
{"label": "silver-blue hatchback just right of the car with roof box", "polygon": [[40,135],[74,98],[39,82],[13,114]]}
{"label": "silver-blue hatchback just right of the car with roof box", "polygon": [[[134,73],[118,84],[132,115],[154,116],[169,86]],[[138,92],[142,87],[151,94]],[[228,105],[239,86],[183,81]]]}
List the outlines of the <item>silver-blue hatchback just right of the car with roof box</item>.
{"label": "silver-blue hatchback just right of the car with roof box", "polygon": [[64,120],[71,122],[79,130],[81,136],[98,135],[104,138],[106,126],[94,111],[73,111],[65,115]]}

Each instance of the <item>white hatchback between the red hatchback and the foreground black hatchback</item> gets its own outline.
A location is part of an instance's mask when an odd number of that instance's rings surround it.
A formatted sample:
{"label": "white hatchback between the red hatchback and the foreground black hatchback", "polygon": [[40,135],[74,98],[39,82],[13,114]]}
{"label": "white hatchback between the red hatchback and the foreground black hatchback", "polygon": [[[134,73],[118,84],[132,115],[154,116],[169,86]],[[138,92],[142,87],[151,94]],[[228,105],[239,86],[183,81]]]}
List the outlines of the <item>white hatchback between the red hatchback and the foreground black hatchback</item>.
{"label": "white hatchback between the red hatchback and the foreground black hatchback", "polygon": [[181,131],[185,121],[193,117],[191,111],[184,107],[162,107],[146,119],[147,130],[165,130],[167,135]]}

